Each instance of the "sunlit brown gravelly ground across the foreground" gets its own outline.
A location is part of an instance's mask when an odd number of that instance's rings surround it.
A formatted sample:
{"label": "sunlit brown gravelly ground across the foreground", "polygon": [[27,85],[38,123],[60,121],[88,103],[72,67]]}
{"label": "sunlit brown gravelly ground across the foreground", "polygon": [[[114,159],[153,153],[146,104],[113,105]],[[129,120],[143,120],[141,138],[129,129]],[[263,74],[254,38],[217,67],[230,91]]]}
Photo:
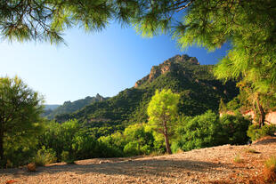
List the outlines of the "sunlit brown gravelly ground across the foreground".
{"label": "sunlit brown gravelly ground across the foreground", "polygon": [[[254,152],[254,153],[253,153]],[[4,183],[261,183],[264,160],[276,156],[276,138],[251,146],[224,145],[165,156],[89,159],[0,170]]]}

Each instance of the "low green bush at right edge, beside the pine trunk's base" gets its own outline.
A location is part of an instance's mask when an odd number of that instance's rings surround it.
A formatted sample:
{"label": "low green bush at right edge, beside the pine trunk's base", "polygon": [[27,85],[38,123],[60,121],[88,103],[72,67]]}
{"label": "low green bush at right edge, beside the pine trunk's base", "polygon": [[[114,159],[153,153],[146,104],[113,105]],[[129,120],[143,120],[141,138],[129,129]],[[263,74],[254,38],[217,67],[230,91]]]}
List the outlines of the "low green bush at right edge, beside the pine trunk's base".
{"label": "low green bush at right edge, beside the pine trunk's base", "polygon": [[262,128],[259,128],[258,124],[252,124],[248,128],[248,137],[251,140],[258,140],[265,136],[273,136],[276,132],[276,125],[267,125],[265,124]]}

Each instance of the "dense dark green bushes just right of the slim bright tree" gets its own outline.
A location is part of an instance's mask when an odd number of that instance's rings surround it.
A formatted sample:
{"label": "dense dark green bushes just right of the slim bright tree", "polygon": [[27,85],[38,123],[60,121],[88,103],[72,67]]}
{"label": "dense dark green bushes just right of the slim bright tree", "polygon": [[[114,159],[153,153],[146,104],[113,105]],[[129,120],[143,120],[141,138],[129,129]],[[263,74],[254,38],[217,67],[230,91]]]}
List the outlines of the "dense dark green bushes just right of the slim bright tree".
{"label": "dense dark green bushes just right of the slim bright tree", "polygon": [[243,116],[219,117],[211,111],[194,117],[183,117],[177,127],[174,151],[206,148],[223,144],[245,144],[250,121]]}

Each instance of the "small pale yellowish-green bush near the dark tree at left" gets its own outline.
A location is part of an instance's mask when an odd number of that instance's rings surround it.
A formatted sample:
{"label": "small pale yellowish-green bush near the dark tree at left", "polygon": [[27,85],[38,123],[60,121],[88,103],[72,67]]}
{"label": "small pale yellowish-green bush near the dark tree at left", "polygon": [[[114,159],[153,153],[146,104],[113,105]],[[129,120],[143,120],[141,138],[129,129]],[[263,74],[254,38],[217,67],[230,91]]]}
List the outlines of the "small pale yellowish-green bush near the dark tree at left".
{"label": "small pale yellowish-green bush near the dark tree at left", "polygon": [[45,164],[51,164],[57,161],[56,154],[53,151],[53,148],[46,149],[42,147],[37,151],[37,156],[34,158],[34,162],[39,166]]}

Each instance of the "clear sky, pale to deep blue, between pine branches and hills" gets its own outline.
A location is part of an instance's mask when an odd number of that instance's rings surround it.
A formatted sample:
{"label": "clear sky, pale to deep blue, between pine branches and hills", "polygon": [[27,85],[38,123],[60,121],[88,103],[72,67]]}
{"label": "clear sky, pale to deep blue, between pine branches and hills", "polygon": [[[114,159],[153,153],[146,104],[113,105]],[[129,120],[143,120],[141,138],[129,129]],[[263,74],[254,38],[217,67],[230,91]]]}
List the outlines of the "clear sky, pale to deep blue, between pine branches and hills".
{"label": "clear sky, pale to deep blue, between pine branches and hills", "polygon": [[216,52],[191,47],[182,52],[170,36],[142,38],[133,28],[117,24],[100,33],[77,28],[64,35],[68,44],[0,43],[0,76],[20,76],[45,97],[46,104],[62,104],[100,93],[114,96],[176,54],[197,57],[200,64],[215,64],[229,48]]}

